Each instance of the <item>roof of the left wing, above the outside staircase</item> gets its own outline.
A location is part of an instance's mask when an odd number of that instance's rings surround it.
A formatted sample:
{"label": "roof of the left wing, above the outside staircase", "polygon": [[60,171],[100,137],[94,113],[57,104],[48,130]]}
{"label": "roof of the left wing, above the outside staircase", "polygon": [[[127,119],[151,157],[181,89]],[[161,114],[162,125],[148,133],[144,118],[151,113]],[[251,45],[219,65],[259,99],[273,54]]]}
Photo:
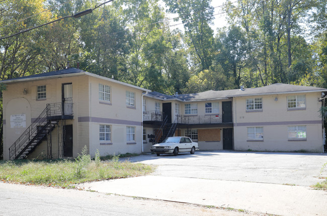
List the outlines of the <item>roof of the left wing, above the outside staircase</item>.
{"label": "roof of the left wing, above the outside staircase", "polygon": [[13,83],[13,82],[20,82],[20,81],[30,81],[30,80],[37,80],[37,79],[46,79],[46,78],[58,78],[61,76],[77,76],[77,75],[89,75],[93,77],[97,77],[103,80],[108,80],[111,82],[119,83],[125,86],[129,86],[132,88],[137,88],[142,91],[151,91],[145,88],[138,87],[136,85],[128,84],[125,82],[121,82],[115,79],[110,79],[108,77],[100,76],[94,73],[89,73],[84,70],[80,70],[74,67],[62,69],[62,70],[57,70],[57,71],[51,71],[51,72],[46,72],[46,73],[39,73],[39,74],[34,74],[30,76],[22,76],[22,77],[17,77],[17,78],[12,78],[12,79],[7,79],[7,80],[2,80],[0,83]]}

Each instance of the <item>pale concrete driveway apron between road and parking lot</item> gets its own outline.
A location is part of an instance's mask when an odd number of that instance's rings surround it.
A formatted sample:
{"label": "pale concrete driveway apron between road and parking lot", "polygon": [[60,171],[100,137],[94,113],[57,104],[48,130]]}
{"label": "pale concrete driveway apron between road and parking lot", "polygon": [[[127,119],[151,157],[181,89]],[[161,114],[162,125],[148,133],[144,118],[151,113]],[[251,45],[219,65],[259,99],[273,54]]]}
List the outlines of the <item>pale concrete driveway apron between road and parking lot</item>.
{"label": "pale concrete driveway apron between road and parking lot", "polygon": [[142,176],[80,184],[86,190],[278,215],[327,215],[327,191],[307,186]]}

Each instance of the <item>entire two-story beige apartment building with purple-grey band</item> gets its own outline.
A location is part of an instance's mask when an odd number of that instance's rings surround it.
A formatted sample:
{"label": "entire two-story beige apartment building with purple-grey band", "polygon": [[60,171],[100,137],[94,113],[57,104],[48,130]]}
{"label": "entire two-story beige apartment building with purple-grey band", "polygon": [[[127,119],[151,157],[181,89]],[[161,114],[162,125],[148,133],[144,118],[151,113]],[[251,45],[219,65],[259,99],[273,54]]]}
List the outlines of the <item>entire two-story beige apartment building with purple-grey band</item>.
{"label": "entire two-story beige apartment building with purple-grey band", "polygon": [[200,150],[323,152],[327,89],[276,83],[166,95],[76,68],[1,81],[4,159],[150,152],[167,136]]}

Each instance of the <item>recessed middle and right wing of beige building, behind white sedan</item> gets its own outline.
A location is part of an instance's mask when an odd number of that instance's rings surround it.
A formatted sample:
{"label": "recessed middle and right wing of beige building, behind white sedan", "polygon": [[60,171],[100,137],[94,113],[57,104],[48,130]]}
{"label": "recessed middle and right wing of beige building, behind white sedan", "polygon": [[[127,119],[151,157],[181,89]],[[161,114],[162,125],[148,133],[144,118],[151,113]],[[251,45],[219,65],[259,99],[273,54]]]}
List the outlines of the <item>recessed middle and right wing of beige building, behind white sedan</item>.
{"label": "recessed middle and right wing of beige building, behind white sedan", "polygon": [[[161,134],[165,137],[165,131],[176,127],[176,134],[191,137],[201,150],[323,152],[319,98],[326,90],[276,83],[173,96],[149,92],[143,99],[147,104],[143,109],[147,117],[143,118],[144,150],[148,151],[150,141],[158,141]],[[153,104],[158,107],[155,112]],[[164,122],[157,122],[161,112],[168,121],[160,125]],[[145,136],[152,131],[154,140]]]}

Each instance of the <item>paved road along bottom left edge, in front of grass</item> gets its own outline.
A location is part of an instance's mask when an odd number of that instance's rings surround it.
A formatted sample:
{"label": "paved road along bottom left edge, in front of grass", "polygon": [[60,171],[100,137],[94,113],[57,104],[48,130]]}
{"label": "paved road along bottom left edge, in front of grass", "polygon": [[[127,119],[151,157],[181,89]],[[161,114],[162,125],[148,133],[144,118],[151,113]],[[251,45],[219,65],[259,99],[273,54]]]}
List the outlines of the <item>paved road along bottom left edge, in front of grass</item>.
{"label": "paved road along bottom left edge, in front of grass", "polygon": [[[187,203],[0,182],[0,215],[222,215],[240,212]],[[246,214],[247,216],[252,214]],[[255,214],[258,215],[258,214]]]}

